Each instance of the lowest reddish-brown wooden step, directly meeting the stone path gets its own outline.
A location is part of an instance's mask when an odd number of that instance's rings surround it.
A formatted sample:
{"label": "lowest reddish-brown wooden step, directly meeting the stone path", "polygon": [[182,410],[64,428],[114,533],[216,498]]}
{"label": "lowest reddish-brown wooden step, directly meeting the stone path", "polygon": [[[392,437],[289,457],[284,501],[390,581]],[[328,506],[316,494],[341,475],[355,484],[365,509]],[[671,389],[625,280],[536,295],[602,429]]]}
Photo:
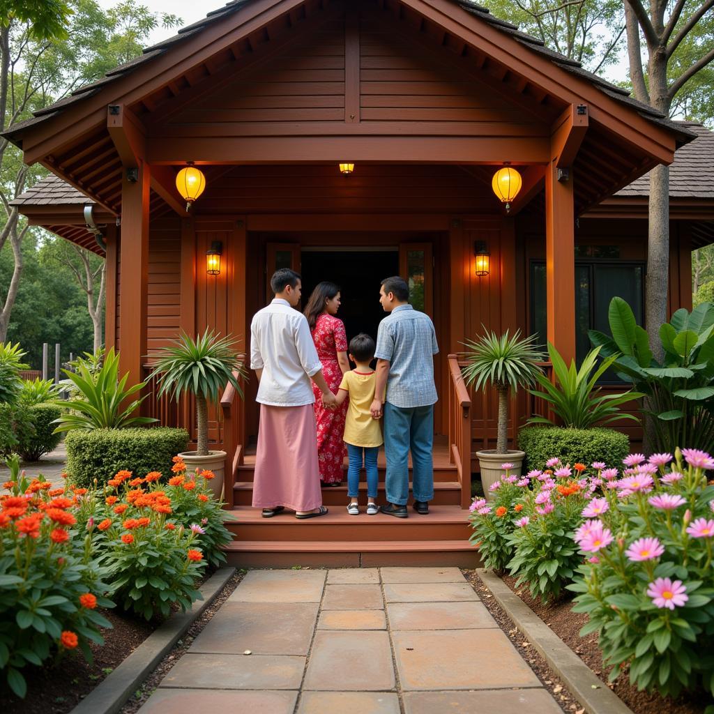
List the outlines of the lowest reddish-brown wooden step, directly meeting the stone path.
{"label": "lowest reddish-brown wooden step, directly meeting the stone path", "polygon": [[375,568],[383,565],[455,565],[478,568],[478,549],[468,540],[233,540],[226,548],[229,565],[239,568]]}

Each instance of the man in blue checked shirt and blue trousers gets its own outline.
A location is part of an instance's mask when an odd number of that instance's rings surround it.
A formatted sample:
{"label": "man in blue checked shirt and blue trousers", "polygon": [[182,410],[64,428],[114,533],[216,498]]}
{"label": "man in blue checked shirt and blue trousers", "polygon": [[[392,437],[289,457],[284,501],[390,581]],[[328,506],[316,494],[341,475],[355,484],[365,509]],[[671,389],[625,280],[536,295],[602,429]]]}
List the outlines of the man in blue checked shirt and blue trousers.
{"label": "man in blue checked shirt and blue trousers", "polygon": [[375,419],[384,415],[384,453],[387,459],[386,506],[382,513],[407,518],[409,498],[409,450],[413,465],[413,508],[429,512],[434,496],[433,440],[434,359],[439,348],[431,319],[409,303],[409,287],[395,276],[382,281],[379,301],[389,315],[377,332],[377,379],[371,412]]}

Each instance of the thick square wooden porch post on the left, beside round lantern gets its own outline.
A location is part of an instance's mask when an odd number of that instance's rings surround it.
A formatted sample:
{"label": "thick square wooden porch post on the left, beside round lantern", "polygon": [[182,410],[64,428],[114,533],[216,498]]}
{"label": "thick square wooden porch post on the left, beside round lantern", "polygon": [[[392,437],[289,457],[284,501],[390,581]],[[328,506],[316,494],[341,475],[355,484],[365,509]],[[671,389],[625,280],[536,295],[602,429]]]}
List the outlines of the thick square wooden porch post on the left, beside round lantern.
{"label": "thick square wooden porch post on the left, beside round lantern", "polygon": [[139,162],[136,181],[121,182],[121,294],[119,296],[119,373],[128,385],[141,381],[146,355],[146,310],[149,284],[149,164]]}

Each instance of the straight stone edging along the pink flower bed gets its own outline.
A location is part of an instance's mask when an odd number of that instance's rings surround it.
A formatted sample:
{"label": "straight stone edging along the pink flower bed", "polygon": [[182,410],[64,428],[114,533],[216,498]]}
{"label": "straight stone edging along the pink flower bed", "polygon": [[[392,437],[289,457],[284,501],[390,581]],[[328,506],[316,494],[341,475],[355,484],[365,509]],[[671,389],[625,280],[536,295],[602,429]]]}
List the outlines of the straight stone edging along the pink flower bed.
{"label": "straight stone edging along the pink flower bed", "polygon": [[545,658],[588,714],[633,714],[618,695],[610,691],[573,650],[536,615],[506,583],[491,570],[476,574],[501,605],[513,624]]}

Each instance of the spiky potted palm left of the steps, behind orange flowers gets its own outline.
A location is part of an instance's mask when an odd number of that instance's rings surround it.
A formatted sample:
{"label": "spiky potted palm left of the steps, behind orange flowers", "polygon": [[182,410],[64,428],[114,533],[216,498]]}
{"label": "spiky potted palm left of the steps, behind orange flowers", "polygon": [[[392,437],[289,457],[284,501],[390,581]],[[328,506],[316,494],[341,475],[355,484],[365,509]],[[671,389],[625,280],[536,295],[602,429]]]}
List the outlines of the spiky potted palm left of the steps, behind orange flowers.
{"label": "spiky potted palm left of the steps, behind orange flowers", "polygon": [[181,333],[177,340],[151,355],[154,370],[151,378],[159,381],[159,396],[170,394],[178,401],[185,394],[196,399],[196,451],[185,451],[179,456],[186,463],[186,471],[200,468],[213,471],[213,493],[218,498],[223,486],[226,464],[225,451],[208,450],[208,402],[217,403],[228,383],[243,397],[239,381],[246,376],[243,355],[235,349],[231,336],[219,338],[206,331],[196,338]]}

